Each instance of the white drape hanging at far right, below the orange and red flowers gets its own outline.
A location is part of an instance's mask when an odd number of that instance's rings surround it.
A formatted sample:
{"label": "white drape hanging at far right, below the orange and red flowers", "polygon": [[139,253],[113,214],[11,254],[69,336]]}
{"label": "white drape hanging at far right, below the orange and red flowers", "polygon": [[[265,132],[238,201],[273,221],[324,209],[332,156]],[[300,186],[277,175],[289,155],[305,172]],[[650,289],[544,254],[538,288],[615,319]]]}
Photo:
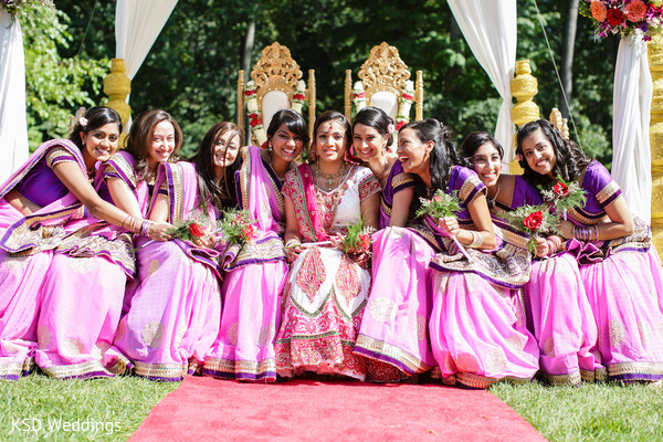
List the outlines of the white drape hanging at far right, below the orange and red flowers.
{"label": "white drape hanging at far right, below the orange and red flowers", "polygon": [[653,83],[646,43],[638,36],[619,44],[612,95],[612,177],[631,213],[651,223],[652,176],[649,139]]}

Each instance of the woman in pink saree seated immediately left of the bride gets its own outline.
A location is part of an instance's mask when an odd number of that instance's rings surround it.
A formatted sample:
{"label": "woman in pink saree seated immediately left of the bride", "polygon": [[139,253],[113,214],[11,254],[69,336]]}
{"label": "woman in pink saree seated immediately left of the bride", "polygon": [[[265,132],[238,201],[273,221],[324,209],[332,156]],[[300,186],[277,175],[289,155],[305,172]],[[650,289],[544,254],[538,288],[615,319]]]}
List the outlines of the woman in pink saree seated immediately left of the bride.
{"label": "woman in pink saree seated immediately left of the bride", "polygon": [[281,293],[287,276],[283,250],[285,208],[281,189],[308,146],[306,122],[278,110],[267,127],[267,149],[242,148],[238,204],[249,211],[255,238],[225,256],[223,315],[202,372],[222,379],[276,380],[274,339],[281,326]]}

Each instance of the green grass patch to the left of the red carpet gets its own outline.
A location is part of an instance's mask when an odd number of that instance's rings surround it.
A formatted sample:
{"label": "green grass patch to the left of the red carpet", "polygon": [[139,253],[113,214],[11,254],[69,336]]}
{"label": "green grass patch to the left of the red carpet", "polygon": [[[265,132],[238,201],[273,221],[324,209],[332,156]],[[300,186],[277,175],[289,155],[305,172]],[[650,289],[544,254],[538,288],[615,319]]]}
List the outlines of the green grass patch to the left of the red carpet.
{"label": "green grass patch to the left of the red carpet", "polygon": [[62,381],[32,375],[0,381],[0,440],[126,441],[178,386],[133,376]]}

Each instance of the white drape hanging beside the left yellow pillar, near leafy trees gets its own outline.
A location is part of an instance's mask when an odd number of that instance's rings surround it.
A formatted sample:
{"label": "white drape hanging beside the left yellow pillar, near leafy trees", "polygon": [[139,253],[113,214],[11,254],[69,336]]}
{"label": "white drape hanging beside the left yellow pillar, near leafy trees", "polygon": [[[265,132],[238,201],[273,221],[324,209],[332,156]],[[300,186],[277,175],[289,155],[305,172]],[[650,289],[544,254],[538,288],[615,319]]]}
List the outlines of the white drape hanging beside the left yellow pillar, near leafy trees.
{"label": "white drape hanging beside the left yellow pillar, near leafy trees", "polygon": [[124,59],[133,80],[147,56],[177,0],[117,0],[115,9],[115,57]]}

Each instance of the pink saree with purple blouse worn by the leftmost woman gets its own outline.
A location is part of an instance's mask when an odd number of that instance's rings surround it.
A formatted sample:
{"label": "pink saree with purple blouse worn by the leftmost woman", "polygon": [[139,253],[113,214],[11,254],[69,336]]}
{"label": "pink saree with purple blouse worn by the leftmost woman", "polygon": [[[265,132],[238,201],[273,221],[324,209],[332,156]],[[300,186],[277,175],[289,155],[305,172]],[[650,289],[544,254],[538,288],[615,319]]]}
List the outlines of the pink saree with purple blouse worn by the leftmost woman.
{"label": "pink saree with purple blouse worn by the leftmost woman", "polygon": [[[51,170],[59,161],[76,162],[86,173],[78,148],[70,140],[54,139],[41,145],[0,187],[0,379],[18,379],[34,367],[40,287],[53,249],[71,233],[64,224],[84,213],[76,197]],[[31,176],[35,179],[25,185]],[[15,188],[40,192],[50,202],[23,217],[4,199]]]}

